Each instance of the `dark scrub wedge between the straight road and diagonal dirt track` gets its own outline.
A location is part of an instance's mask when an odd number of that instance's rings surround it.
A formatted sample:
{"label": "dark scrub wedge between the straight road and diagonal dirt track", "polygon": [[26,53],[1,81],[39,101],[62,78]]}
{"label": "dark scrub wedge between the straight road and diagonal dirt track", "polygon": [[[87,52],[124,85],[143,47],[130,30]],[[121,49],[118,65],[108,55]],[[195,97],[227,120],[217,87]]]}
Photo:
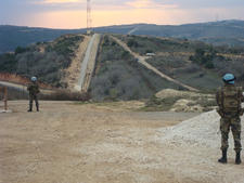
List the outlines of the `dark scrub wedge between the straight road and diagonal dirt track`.
{"label": "dark scrub wedge between the straight road and diagonal dirt track", "polygon": [[95,76],[90,86],[92,99],[98,101],[146,99],[168,87],[177,88],[140,65],[108,36],[103,38]]}

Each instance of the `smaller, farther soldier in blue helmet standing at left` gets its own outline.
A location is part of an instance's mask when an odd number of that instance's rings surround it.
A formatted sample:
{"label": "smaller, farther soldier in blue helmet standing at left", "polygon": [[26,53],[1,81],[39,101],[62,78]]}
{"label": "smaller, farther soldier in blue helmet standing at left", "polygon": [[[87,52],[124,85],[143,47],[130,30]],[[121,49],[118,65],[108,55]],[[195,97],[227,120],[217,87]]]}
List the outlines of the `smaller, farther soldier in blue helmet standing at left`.
{"label": "smaller, farther soldier in blue helmet standing at left", "polygon": [[37,94],[40,92],[39,86],[37,83],[37,78],[31,77],[31,83],[28,84],[27,90],[29,91],[29,109],[28,112],[33,112],[33,101],[35,100],[37,112],[39,112],[39,103]]}

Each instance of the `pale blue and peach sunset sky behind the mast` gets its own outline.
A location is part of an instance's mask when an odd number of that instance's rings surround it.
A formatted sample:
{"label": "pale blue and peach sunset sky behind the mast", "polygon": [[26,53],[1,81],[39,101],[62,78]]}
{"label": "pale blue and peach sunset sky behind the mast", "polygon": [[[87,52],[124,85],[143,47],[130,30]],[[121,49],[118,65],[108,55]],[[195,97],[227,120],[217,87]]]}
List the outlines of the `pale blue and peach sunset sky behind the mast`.
{"label": "pale blue and peach sunset sky behind the mast", "polygon": [[[244,0],[91,0],[92,27],[244,19]],[[86,0],[0,0],[0,25],[87,27]]]}

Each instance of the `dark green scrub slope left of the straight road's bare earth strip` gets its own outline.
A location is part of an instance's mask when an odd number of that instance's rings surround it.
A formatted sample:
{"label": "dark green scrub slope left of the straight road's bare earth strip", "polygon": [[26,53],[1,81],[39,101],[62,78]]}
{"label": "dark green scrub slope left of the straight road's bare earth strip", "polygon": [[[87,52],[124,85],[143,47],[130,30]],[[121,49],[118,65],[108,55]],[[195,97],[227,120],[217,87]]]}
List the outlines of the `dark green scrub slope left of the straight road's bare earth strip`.
{"label": "dark green scrub slope left of the straight road's bare earth strip", "polygon": [[67,35],[53,42],[17,47],[15,53],[0,55],[0,73],[17,74],[27,78],[37,76],[42,82],[65,88],[61,82],[63,70],[70,65],[82,36]]}

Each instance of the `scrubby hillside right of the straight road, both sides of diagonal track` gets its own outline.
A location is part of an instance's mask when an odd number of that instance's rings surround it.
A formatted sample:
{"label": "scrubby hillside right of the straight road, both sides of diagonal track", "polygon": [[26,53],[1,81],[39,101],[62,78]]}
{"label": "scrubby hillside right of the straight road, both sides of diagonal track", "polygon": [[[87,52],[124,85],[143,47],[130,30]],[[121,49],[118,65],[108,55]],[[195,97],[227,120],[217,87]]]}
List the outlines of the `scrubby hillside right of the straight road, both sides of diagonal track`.
{"label": "scrubby hillside right of the straight road, both sides of diagonal track", "polygon": [[[141,56],[145,56],[147,52],[155,53],[155,56],[147,56],[145,62],[163,74],[201,91],[215,91],[222,84],[221,77],[226,73],[235,74],[237,84],[244,86],[243,49],[213,47],[176,38],[115,37]],[[167,88],[185,90],[140,64],[112,36],[104,36],[90,87],[93,99],[144,99]]]}

